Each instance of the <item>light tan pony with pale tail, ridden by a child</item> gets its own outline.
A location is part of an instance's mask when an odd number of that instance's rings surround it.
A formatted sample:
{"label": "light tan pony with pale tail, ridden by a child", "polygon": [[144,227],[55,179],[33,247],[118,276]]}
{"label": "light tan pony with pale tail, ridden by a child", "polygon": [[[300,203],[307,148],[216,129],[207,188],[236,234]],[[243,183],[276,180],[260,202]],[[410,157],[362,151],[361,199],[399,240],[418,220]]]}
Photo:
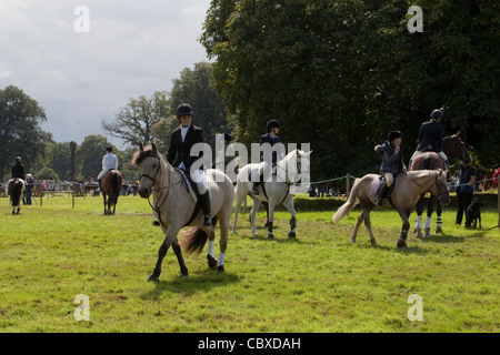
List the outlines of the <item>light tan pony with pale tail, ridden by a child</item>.
{"label": "light tan pony with pale tail, ridden by a child", "polygon": [[[370,234],[371,245],[377,245],[377,242],[371,232],[370,212],[376,207],[376,193],[370,193],[371,184],[379,175],[368,174],[361,179],[357,179],[351,190],[349,200],[337,210],[333,214],[333,222],[340,221],[351,211],[358,203],[361,204],[363,211],[358,217],[354,231],[352,232],[351,242],[356,243],[356,235],[361,223],[364,225]],[[408,230],[410,222],[408,217],[413,210],[420,195],[424,192],[431,192],[439,196],[443,204],[450,202],[450,195],[447,187],[447,174],[442,170],[422,170],[410,171],[407,174],[399,174],[397,181],[397,189],[392,196],[383,200],[383,209],[394,209],[398,211],[403,224],[401,235],[397,243],[398,247],[407,246]]]}

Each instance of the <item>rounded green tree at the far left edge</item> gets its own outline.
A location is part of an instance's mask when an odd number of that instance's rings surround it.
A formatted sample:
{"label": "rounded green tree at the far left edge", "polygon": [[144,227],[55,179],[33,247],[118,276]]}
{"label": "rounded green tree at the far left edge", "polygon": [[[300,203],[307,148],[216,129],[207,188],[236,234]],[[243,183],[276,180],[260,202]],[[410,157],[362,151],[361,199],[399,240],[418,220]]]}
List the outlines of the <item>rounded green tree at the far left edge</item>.
{"label": "rounded green tree at the far left edge", "polygon": [[[0,182],[10,178],[10,165],[21,156],[27,172],[44,154],[51,134],[42,130],[46,112],[21,89],[0,90]],[[7,172],[7,175],[6,175]]]}

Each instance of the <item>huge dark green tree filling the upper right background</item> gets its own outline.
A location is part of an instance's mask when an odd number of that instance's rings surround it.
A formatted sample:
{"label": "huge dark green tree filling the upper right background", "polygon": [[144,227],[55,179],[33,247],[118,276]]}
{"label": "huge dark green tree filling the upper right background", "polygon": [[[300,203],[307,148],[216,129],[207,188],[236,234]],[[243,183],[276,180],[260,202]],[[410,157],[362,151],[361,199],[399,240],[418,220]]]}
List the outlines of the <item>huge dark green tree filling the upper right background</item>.
{"label": "huge dark green tree filling the upper right background", "polygon": [[[407,26],[410,4],[423,32]],[[376,171],[373,145],[393,129],[408,161],[436,108],[446,134],[462,129],[492,163],[498,10],[493,0],[213,0],[201,41],[240,140],[258,141],[279,119],[284,142],[311,143],[316,179]]]}

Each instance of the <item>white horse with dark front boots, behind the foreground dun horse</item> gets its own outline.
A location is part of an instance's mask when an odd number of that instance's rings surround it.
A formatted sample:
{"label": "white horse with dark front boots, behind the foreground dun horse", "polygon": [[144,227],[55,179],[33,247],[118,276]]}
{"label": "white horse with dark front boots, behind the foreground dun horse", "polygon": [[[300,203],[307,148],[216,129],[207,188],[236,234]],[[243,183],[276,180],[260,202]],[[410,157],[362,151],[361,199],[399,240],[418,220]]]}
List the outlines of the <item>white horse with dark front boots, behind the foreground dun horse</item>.
{"label": "white horse with dark front boots, behind the foreground dun horse", "polygon": [[[253,206],[250,213],[250,223],[252,226],[252,234],[257,235],[256,231],[256,214],[262,201],[269,202],[269,221],[268,221],[268,237],[272,239],[272,222],[274,219],[274,206],[282,204],[291,214],[289,237],[296,236],[296,209],[293,206],[293,194],[290,193],[290,185],[298,182],[302,175],[302,159],[309,159],[312,151],[306,153],[301,150],[293,150],[287,154],[280,162],[277,163],[276,176],[272,181],[262,182],[259,184],[259,194],[251,193],[253,182],[250,181],[250,175],[253,171],[259,169],[260,164],[244,165],[238,173],[237,179],[237,202],[234,207],[234,223],[232,225],[232,233],[237,232],[238,213],[247,194],[251,194],[253,199]],[[266,179],[267,176],[264,176]],[[266,179],[268,180],[268,179]]]}

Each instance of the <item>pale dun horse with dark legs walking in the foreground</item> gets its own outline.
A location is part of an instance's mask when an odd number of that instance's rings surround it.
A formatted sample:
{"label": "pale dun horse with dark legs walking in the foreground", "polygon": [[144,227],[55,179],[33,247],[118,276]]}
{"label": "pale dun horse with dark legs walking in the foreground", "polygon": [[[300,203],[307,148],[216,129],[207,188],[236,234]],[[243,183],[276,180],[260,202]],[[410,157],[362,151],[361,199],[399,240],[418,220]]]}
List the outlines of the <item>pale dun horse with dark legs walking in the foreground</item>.
{"label": "pale dun horse with dark legs walking in the foreground", "polygon": [[[133,154],[132,164],[139,166],[141,172],[141,184],[139,195],[148,199],[153,195],[150,203],[153,215],[160,222],[164,233],[164,240],[158,251],[158,261],[148,281],[158,282],[161,273],[161,263],[167,252],[172,245],[179,262],[182,276],[188,276],[182,257],[181,246],[177,235],[184,226],[192,226],[186,232],[182,245],[188,253],[201,253],[207,240],[209,241],[209,252],[207,253],[208,265],[218,272],[224,271],[226,250],[228,247],[229,222],[234,202],[234,189],[231,180],[223,172],[214,169],[207,170],[207,181],[210,192],[210,210],[212,213],[212,225],[203,225],[203,212],[200,203],[196,203],[184,185],[182,173],[174,169],[158,152],[157,146],[143,148]],[[213,255],[213,242],[216,239],[216,224],[220,221],[220,254],[219,260]]]}

